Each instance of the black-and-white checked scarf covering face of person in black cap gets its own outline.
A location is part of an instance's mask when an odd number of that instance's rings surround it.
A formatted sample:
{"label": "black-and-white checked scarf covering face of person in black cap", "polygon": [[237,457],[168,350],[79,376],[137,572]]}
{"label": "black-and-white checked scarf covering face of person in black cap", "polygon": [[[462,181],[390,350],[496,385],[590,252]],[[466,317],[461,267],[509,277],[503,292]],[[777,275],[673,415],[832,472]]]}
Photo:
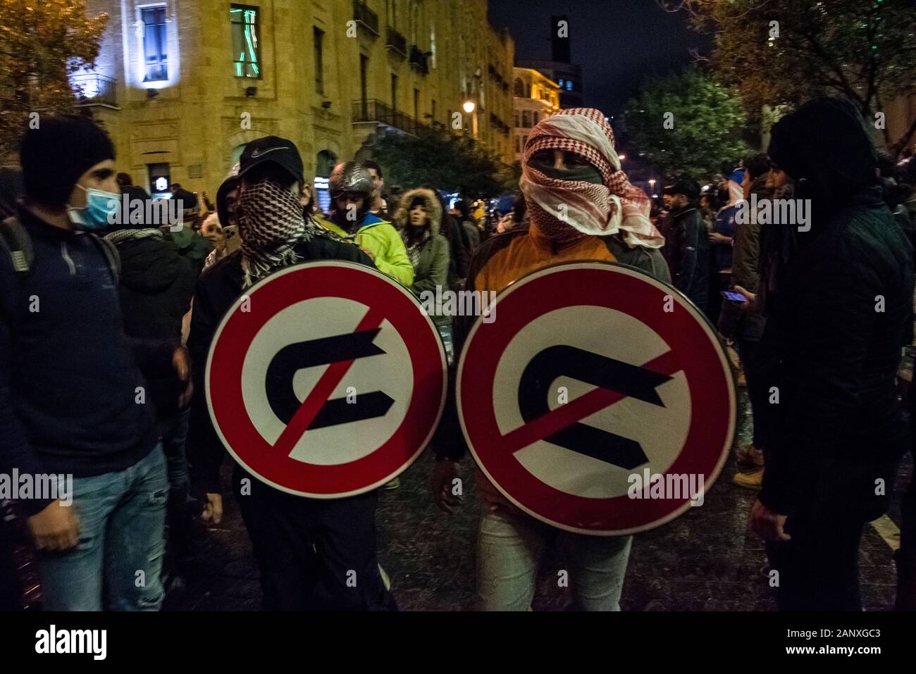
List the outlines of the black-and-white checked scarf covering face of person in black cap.
{"label": "black-and-white checked scarf covering face of person in black cap", "polygon": [[295,263],[294,246],[308,241],[314,225],[302,216],[299,196],[278,183],[262,180],[239,194],[242,211],[242,288],[248,288],[271,271]]}

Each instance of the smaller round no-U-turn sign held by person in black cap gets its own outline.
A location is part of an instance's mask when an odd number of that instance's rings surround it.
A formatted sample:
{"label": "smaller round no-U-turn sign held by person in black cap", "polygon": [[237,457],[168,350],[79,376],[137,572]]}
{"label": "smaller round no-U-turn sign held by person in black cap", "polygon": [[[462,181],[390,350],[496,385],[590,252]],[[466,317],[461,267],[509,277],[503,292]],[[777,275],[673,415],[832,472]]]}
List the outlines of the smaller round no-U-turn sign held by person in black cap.
{"label": "smaller round no-U-turn sign held by person in black cap", "polygon": [[343,261],[278,271],[237,299],[205,375],[213,428],[245,470],[312,498],[387,483],[442,415],[445,353],[407,288]]}

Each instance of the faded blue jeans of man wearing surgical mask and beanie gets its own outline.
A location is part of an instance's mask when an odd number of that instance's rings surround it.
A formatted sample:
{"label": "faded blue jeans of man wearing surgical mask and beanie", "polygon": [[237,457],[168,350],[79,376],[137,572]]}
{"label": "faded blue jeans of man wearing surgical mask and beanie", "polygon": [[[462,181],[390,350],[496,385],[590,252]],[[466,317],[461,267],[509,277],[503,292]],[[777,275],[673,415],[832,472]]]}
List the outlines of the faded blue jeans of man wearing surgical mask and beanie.
{"label": "faded blue jeans of man wearing surgical mask and beanie", "polygon": [[119,473],[73,478],[80,542],[41,554],[45,610],[158,611],[168,499],[161,443]]}

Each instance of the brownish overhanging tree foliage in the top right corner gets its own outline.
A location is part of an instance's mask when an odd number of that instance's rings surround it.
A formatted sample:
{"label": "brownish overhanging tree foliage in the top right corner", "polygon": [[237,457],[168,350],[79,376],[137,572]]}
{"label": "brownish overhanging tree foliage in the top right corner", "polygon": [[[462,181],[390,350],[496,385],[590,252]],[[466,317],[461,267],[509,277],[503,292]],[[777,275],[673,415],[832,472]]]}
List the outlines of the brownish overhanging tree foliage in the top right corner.
{"label": "brownish overhanging tree foliage in the top right corner", "polygon": [[[689,12],[698,29],[715,30],[714,71],[740,89],[755,120],[764,105],[796,106],[823,93],[844,94],[874,118],[883,105],[916,85],[916,4],[911,0],[660,4]],[[887,134],[885,129],[890,144],[894,139]]]}

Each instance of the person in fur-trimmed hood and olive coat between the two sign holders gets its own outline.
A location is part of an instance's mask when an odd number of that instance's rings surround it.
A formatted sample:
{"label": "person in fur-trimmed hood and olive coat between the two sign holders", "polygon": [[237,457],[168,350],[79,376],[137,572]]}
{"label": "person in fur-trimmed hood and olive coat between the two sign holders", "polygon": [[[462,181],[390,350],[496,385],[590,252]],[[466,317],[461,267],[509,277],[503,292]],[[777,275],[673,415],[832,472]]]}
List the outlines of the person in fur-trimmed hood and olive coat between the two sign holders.
{"label": "person in fur-trimmed hood and olive coat between the two sign holders", "polygon": [[437,302],[432,321],[437,325],[450,323],[451,317],[442,315],[442,290],[449,289],[449,242],[439,234],[442,205],[432,190],[409,190],[401,197],[394,221],[414,269],[410,289],[418,297],[423,292],[433,293]]}

